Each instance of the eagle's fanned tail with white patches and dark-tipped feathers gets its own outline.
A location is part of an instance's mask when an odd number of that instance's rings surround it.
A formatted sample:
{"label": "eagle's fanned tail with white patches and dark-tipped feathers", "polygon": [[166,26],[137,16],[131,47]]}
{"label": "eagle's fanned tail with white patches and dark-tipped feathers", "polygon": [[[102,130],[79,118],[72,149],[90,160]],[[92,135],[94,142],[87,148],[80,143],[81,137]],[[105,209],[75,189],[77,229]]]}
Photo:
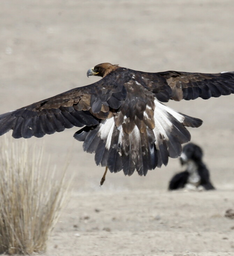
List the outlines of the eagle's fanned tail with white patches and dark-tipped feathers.
{"label": "eagle's fanned tail with white patches and dark-tipped feathers", "polygon": [[[151,105],[153,106],[153,105]],[[152,107],[146,105],[142,115],[145,129],[139,128],[138,121],[129,121],[124,116],[122,123],[116,126],[114,116],[102,120],[97,126],[79,130],[75,139],[83,141],[83,149],[95,154],[97,165],[107,166],[111,172],[123,169],[125,175],[132,175],[134,170],[146,175],[148,170],[166,165],[168,157],[181,154],[182,143],[190,140],[190,134],[184,127],[199,126],[201,121],[183,115],[175,110],[154,101]],[[130,133],[123,126],[131,125]]]}

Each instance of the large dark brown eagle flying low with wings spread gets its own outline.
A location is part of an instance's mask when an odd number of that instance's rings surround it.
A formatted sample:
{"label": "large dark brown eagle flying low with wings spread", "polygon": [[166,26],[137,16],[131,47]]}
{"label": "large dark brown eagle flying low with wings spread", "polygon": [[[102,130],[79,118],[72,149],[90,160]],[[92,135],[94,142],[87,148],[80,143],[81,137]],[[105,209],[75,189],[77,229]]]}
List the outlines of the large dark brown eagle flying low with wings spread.
{"label": "large dark brown eagle flying low with wings spread", "polygon": [[12,129],[14,138],[42,137],[83,127],[74,137],[83,141],[85,151],[96,153],[97,165],[146,175],[181,154],[181,144],[190,140],[185,126],[202,124],[159,101],[234,93],[234,72],[146,73],[102,63],[87,75],[103,79],[0,115],[0,135]]}

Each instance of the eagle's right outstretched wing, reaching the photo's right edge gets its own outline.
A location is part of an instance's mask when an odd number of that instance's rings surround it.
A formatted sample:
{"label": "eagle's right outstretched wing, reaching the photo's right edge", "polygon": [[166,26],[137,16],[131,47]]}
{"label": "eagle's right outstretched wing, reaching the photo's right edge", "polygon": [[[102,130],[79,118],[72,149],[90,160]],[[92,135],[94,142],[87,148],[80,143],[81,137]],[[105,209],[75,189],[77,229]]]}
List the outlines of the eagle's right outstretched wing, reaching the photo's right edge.
{"label": "eagle's right outstretched wing, reaching the photo's right edge", "polygon": [[139,80],[144,81],[158,100],[209,99],[234,93],[234,72],[217,74],[166,71],[158,73],[139,72]]}

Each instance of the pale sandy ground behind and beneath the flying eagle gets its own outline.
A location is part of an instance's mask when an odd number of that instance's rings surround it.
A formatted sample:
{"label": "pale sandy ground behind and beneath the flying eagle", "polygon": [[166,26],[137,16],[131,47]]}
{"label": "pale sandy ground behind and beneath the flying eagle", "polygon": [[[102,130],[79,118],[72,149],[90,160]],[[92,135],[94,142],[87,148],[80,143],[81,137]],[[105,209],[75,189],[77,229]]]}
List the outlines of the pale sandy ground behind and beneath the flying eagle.
{"label": "pale sandy ground behind and beneath the flying eagle", "polygon": [[[234,70],[233,13],[231,0],[1,0],[0,113],[97,81],[86,72],[101,62],[148,72]],[[77,128],[41,139],[58,174],[73,152],[73,190],[45,255],[234,255],[234,220],[224,217],[234,208],[233,99],[167,104],[204,120],[190,132],[216,191],[168,192],[177,159],[146,177],[108,173],[100,188],[104,169],[73,139]]]}

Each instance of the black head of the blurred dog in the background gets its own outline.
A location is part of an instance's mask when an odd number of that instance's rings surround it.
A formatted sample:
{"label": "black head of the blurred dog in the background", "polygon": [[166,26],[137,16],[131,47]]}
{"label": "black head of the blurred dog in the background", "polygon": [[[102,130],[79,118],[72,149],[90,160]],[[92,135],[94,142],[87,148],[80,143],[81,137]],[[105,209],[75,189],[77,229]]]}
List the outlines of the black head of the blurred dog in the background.
{"label": "black head of the blurred dog in the background", "polygon": [[180,156],[181,164],[187,163],[189,160],[195,162],[201,161],[203,156],[202,149],[194,143],[188,143],[183,147],[182,154]]}

